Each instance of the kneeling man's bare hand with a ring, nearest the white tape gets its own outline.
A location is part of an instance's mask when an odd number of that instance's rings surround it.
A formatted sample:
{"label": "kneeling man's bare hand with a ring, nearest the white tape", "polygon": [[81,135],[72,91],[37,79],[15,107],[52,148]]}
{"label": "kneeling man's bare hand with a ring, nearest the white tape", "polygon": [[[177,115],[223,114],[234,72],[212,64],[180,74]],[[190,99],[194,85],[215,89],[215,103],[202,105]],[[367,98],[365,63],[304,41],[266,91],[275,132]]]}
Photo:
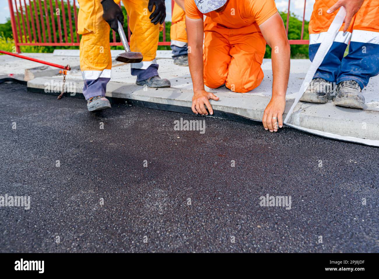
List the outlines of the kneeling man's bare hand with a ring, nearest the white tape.
{"label": "kneeling man's bare hand with a ring, nearest the white tape", "polygon": [[272,97],[263,113],[262,123],[265,130],[276,132],[283,127],[283,112],[285,109],[285,96]]}

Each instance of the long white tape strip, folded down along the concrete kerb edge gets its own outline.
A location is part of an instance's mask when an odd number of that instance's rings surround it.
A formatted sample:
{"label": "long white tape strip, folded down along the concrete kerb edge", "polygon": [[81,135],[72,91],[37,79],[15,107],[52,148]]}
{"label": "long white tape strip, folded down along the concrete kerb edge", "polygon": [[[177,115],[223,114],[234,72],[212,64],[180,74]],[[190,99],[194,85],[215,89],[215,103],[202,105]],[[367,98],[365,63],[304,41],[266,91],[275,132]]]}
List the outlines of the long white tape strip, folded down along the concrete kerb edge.
{"label": "long white tape strip, folded down along the concrete kerb edge", "polygon": [[287,113],[287,116],[284,120],[284,124],[287,126],[290,126],[292,128],[299,129],[299,130],[305,131],[305,132],[309,132],[311,134],[315,134],[318,136],[323,136],[323,137],[328,137],[328,138],[338,139],[338,140],[345,140],[348,142],[363,143],[366,145],[372,145],[372,146],[379,147],[379,140],[360,139],[357,137],[341,136],[341,135],[332,134],[332,133],[328,133],[328,132],[321,132],[321,131],[314,130],[314,129],[308,129],[308,128],[296,126],[293,124],[288,124],[288,119],[290,118],[294,107],[296,106],[296,104],[298,104],[299,99],[304,94],[305,90],[307,89],[307,87],[309,86],[313,77],[315,76],[318,67],[323,62],[324,57],[326,56],[327,52],[329,51],[330,47],[332,46],[333,41],[334,41],[335,37],[337,36],[337,33],[340,30],[345,17],[346,17],[346,10],[344,7],[341,7],[340,10],[338,11],[337,15],[335,16],[332,24],[330,24],[330,27],[326,33],[326,36],[325,36],[323,42],[320,44],[320,46],[316,52],[315,58],[313,59],[312,64],[310,65],[310,67],[308,69],[308,72],[304,78],[304,81],[300,87],[300,90],[295,97],[293,105],[291,106],[290,110]]}

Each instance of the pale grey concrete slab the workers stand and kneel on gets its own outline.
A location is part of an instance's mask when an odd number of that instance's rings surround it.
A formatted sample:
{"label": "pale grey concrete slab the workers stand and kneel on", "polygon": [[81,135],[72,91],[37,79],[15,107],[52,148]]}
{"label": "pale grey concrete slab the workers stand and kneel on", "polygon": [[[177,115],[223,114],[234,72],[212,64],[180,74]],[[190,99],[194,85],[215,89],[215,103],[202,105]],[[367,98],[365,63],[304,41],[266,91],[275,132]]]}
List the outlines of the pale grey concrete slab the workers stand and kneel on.
{"label": "pale grey concrete slab the workers stand and kneel on", "polygon": [[[169,51],[165,52],[165,55],[170,54]],[[54,56],[53,54],[31,54],[30,56],[42,60],[54,61],[58,64],[70,63],[72,66],[79,64],[79,57],[75,56],[62,57]],[[10,58],[11,61],[6,59],[3,55],[0,56],[0,61],[4,61],[8,63],[8,65],[13,63],[13,73],[25,70],[25,60],[22,60],[22,63],[20,63],[16,61],[16,59],[19,58]],[[170,106],[185,107],[188,112],[193,94],[188,67],[174,65],[172,60],[168,58],[157,58],[157,60],[160,65],[158,70],[160,76],[168,78],[171,81],[172,88],[154,89],[137,86],[135,85],[135,77],[130,75],[130,65],[113,61],[112,78],[108,84],[106,95],[113,98],[166,104],[168,105],[166,106],[168,110],[170,110]],[[26,62],[28,63],[29,61]],[[294,95],[298,92],[309,65],[309,60],[291,60],[286,112],[293,103]],[[35,66],[35,63],[33,66]],[[271,97],[273,75],[270,59],[263,60],[262,69],[265,74],[262,84],[249,93],[234,93],[225,87],[216,90],[207,88],[220,98],[217,102],[211,101],[214,109],[218,110],[218,112],[231,113],[251,120],[260,121],[262,119],[263,110]],[[7,69],[7,71],[11,72],[10,69]],[[61,80],[61,76],[38,77],[30,80],[28,87],[35,88],[35,91],[44,91],[45,88],[50,89],[50,85],[54,84],[54,82],[61,82]],[[83,87],[80,71],[70,71],[66,80],[67,82],[75,84],[75,90],[77,94],[80,95],[81,88]],[[363,90],[363,94],[366,98],[364,110],[336,107],[332,102],[328,102],[327,104],[307,104],[300,102],[295,107],[289,123],[308,129],[339,134],[341,136],[379,140],[379,94],[377,88],[379,88],[378,76],[371,78],[370,84]],[[215,117],[217,116],[218,114],[216,113]]]}

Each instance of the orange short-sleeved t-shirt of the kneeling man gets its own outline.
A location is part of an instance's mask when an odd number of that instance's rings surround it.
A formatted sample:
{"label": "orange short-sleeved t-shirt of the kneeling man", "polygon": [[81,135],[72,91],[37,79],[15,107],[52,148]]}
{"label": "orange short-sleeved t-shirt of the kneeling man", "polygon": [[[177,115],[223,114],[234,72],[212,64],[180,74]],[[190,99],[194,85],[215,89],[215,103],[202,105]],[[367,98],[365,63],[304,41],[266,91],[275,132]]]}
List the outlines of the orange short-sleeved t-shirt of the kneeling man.
{"label": "orange short-sleeved t-shirt of the kneeling man", "polygon": [[[203,17],[194,0],[185,0],[185,8],[190,19]],[[205,16],[225,27],[240,28],[254,23],[260,25],[276,12],[274,0],[229,0],[224,11],[211,11]]]}

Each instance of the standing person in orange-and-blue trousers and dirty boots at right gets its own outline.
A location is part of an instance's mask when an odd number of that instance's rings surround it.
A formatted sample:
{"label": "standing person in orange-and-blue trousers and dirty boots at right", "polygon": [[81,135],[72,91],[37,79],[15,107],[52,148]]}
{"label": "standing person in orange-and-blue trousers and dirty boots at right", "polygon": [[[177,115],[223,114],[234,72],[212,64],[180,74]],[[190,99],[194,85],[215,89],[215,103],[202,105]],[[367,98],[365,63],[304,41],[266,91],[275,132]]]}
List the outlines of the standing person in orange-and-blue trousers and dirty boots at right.
{"label": "standing person in orange-and-blue trousers and dirty boots at right", "polygon": [[363,109],[362,89],[379,74],[379,0],[316,0],[309,22],[309,58],[313,61],[341,6],[346,9],[345,24],[300,101],[333,99],[337,106]]}

